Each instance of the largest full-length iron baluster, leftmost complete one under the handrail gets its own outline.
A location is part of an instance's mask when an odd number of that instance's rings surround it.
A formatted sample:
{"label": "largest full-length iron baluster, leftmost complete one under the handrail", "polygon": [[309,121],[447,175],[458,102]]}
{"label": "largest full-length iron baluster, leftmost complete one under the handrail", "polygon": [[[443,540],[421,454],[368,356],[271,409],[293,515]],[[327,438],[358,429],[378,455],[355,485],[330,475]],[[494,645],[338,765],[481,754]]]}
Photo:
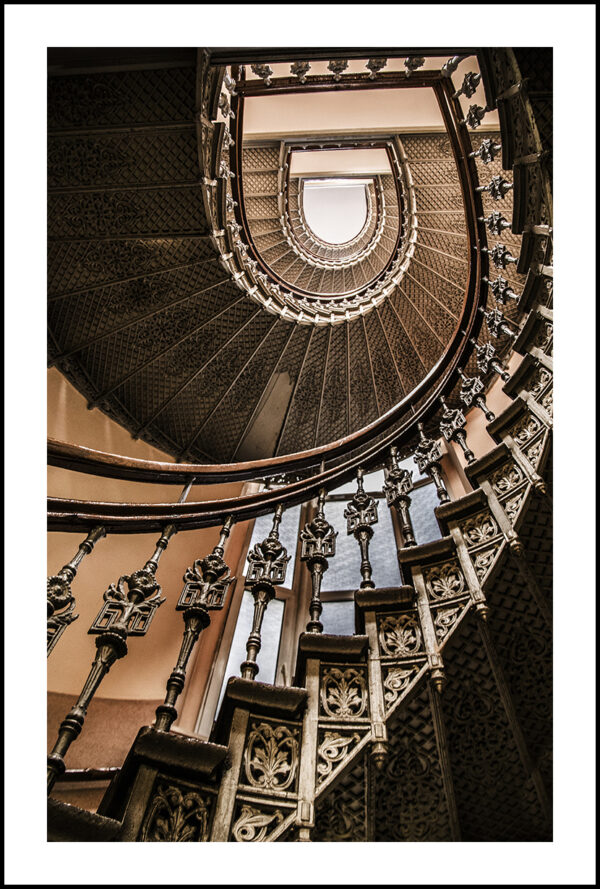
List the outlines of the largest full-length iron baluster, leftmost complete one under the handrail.
{"label": "largest full-length iron baluster, leftmost complete one under the handrail", "polygon": [[155,574],[160,557],[175,533],[175,525],[167,525],[144,567],[133,574],[123,575],[116,586],[111,583],[104,593],[104,605],[88,630],[98,637],[96,657],[77,703],[62,721],[56,744],[48,756],[48,793],[65,771],[65,754],[83,728],[88,707],[100,683],[115,661],[127,654],[127,637],[144,636],[156,609],[165,601]]}

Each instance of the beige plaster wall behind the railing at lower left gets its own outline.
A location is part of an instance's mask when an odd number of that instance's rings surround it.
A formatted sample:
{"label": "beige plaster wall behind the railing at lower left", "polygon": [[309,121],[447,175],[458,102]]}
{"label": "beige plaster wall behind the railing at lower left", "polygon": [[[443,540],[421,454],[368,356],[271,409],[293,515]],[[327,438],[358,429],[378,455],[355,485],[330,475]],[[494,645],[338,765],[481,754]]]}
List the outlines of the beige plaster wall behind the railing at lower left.
{"label": "beige plaster wall behind the railing at lower left", "polygon": [[[97,450],[124,454],[142,459],[173,462],[172,458],[129,434],[98,410],[88,411],[85,399],[57,371],[48,375],[48,434]],[[205,485],[192,488],[189,500],[221,499],[241,493],[241,484]],[[180,488],[176,485],[148,485],[122,482],[118,479],[95,478],[84,473],[49,468],[48,493],[73,499],[121,502],[174,502]],[[247,523],[233,529],[226,559],[237,564],[238,543],[243,539]],[[218,528],[176,534],[163,554],[157,577],[166,602],[158,609],[145,637],[129,640],[129,653],[118,661],[105,678],[99,698],[155,701],[162,698],[165,682],[175,664],[183,620],[175,611],[182,588],[182,576],[195,559],[206,555],[218,540]],[[102,605],[102,594],[108,585],[123,574],[141,568],[154,552],[158,534],[113,534],[98,541],[94,551],[83,559],[72,588],[79,614],[69,626],[48,659],[48,690],[76,696],[81,690],[94,657],[94,638],[88,628]],[[50,532],[48,534],[48,572],[55,573],[77,551],[85,534]],[[210,649],[216,641],[225,613],[213,618],[210,632],[202,645]],[[205,652],[205,657],[208,652]],[[201,677],[196,679],[201,682]],[[85,733],[84,733],[85,734]]]}

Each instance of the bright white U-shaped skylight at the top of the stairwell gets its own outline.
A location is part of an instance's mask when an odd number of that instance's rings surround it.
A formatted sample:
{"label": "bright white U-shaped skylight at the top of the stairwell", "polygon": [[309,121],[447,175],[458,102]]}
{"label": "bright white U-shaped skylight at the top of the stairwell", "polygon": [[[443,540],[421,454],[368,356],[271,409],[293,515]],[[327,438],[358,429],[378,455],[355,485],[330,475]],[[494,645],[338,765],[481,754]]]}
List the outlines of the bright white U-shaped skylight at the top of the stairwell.
{"label": "bright white U-shaped skylight at the top of the stairwell", "polygon": [[345,244],[365,226],[370,179],[304,179],[304,218],[312,232],[328,244]]}

